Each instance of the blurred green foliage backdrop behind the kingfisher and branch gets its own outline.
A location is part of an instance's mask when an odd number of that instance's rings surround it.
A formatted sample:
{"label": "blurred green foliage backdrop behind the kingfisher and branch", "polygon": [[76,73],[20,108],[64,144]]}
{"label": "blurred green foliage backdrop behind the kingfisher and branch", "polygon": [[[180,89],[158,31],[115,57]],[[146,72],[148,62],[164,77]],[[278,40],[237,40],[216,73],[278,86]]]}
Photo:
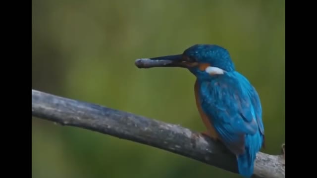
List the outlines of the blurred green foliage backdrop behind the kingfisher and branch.
{"label": "blurred green foliage backdrop behind the kingfisher and branch", "polygon": [[[266,149],[285,142],[285,0],[32,0],[32,89],[204,131],[195,78],[134,60],[227,48],[263,104]],[[33,178],[239,178],[158,148],[32,118]]]}

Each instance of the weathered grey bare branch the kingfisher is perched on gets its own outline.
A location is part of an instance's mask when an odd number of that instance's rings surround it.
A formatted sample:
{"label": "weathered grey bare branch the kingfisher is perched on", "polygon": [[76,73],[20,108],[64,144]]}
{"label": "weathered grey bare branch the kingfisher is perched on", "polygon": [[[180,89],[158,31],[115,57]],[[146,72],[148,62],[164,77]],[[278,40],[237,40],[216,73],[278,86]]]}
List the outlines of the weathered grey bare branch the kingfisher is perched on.
{"label": "weathered grey bare branch the kingfisher is perched on", "polygon": [[[32,116],[112,135],[237,173],[236,159],[221,143],[181,126],[32,89]],[[285,178],[281,155],[259,152],[254,178]]]}

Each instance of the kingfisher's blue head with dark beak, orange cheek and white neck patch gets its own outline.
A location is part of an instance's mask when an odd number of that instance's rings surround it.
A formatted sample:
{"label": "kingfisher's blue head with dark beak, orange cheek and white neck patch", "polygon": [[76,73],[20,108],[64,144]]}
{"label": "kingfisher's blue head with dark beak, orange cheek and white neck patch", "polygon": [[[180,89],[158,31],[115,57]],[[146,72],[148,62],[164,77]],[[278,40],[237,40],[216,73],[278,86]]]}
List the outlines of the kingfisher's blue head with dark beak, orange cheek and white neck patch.
{"label": "kingfisher's blue head with dark beak, orange cheek and white neck patch", "polygon": [[168,55],[150,58],[154,63],[159,60],[170,63],[157,63],[152,67],[183,67],[187,68],[197,78],[210,78],[234,71],[234,64],[229,52],[218,45],[193,45],[183,54]]}

